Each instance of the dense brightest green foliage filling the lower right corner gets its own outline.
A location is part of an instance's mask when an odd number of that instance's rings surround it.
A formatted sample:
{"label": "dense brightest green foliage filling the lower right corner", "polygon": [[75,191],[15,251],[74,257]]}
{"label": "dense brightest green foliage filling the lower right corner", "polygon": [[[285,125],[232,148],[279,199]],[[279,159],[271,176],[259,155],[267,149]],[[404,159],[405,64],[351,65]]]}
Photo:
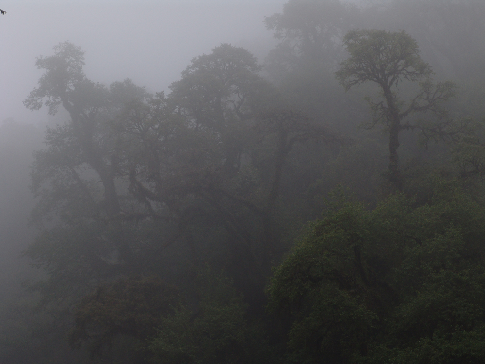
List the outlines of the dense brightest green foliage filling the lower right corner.
{"label": "dense brightest green foliage filling the lower right corner", "polygon": [[268,287],[268,310],[292,317],[289,360],[479,361],[484,221],[456,182],[436,180],[425,205],[346,203],[310,224]]}

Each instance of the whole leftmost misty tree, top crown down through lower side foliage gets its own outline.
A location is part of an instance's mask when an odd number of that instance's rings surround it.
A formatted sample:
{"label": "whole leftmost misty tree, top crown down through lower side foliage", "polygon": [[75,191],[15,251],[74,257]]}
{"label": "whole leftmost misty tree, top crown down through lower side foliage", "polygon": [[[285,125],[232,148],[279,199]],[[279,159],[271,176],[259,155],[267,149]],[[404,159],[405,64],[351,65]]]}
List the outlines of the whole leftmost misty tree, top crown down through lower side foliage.
{"label": "whole leftmost misty tree, top crown down through lower side foliage", "polygon": [[[126,102],[148,96],[129,80],[110,88],[88,80],[84,52],[71,43],[54,51],[37,59],[45,72],[24,103],[31,110],[46,105],[50,114],[62,106],[71,120],[48,128],[47,148],[35,153],[32,190],[40,199],[32,220],[43,231],[25,254],[49,273],[36,286],[45,302],[70,311],[97,284],[139,270],[140,250],[129,234],[133,215],[146,211],[121,182],[124,150],[113,119]],[[52,218],[48,229],[43,223]]]}

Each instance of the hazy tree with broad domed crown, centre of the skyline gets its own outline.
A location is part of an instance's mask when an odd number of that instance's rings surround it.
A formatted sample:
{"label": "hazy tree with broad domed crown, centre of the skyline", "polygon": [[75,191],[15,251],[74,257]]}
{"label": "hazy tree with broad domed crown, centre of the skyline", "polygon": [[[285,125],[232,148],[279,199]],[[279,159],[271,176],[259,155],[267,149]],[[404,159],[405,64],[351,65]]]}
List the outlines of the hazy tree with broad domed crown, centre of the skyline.
{"label": "hazy tree with broad domed crown, centre of the skyline", "polygon": [[169,99],[176,110],[220,143],[227,171],[239,169],[250,135],[248,121],[270,89],[260,70],[249,51],[221,44],[194,58],[182,78],[170,85]]}

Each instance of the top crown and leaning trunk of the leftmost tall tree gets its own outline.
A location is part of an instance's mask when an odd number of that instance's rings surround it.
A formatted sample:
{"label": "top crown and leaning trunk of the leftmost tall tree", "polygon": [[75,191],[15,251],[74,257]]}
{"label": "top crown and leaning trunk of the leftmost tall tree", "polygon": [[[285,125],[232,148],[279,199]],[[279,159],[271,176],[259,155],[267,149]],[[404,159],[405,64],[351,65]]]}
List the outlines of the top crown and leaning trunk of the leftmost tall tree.
{"label": "top crown and leaning trunk of the leftmost tall tree", "polygon": [[[45,69],[46,72],[39,80],[39,87],[32,90],[24,104],[31,110],[39,110],[46,99],[44,103],[49,107],[49,114],[56,114],[59,106],[69,112],[69,127],[72,128],[84,162],[101,179],[104,187],[104,211],[109,218],[113,218],[120,213],[120,202],[114,183],[116,151],[113,149],[114,141],[109,135],[105,135],[108,140],[101,141],[99,137],[101,133],[106,133],[103,121],[109,119],[109,113],[116,111],[127,100],[111,99],[113,95],[110,90],[87,79],[82,70],[84,52],[79,47],[64,42],[55,46],[54,51],[53,56],[37,59],[37,68]],[[137,91],[143,95],[143,90]],[[139,96],[135,91],[131,98]]]}

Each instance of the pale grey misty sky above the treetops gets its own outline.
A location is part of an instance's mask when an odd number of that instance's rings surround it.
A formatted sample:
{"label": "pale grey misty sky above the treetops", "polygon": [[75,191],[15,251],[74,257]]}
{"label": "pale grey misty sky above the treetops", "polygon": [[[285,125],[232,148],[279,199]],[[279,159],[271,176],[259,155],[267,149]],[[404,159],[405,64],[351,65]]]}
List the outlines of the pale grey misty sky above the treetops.
{"label": "pale grey misty sky above the treetops", "polygon": [[35,57],[51,55],[59,42],[86,51],[85,71],[93,81],[130,77],[151,91],[166,90],[193,57],[220,43],[263,57],[273,44],[264,16],[280,12],[285,2],[3,0],[0,122],[46,119],[45,111],[30,112],[22,101],[41,75]]}

